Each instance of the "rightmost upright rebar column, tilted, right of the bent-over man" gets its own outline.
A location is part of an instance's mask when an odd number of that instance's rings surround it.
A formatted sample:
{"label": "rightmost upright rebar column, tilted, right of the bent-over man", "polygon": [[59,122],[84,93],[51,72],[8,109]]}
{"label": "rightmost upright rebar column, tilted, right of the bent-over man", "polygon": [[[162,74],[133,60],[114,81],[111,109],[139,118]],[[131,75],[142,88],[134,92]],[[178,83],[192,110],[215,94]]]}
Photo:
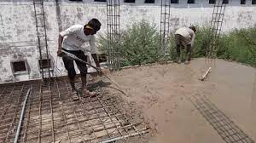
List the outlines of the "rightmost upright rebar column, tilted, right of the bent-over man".
{"label": "rightmost upright rebar column, tilted, right of the bent-over man", "polygon": [[224,20],[224,11],[226,8],[226,0],[216,0],[210,27],[210,45],[207,49],[207,58],[217,57],[218,39],[221,31],[221,27]]}

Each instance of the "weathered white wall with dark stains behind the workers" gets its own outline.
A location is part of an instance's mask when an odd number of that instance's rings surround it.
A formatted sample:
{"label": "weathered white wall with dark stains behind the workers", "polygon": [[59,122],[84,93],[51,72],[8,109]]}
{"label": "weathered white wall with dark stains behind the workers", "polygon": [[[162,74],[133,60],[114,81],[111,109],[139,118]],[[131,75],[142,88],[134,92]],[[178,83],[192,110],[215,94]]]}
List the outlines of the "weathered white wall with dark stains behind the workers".
{"label": "weathered white wall with dark stains behind the workers", "polygon": [[[73,24],[84,25],[87,20],[96,17],[102,21],[102,30],[99,34],[104,34],[107,31],[107,17],[106,3],[96,3],[93,0],[79,3],[62,0],[59,1],[59,12],[56,12],[58,10],[55,1],[57,0],[44,1],[44,10],[49,51],[55,66],[54,73],[60,76],[67,75],[61,59],[56,56],[60,24],[66,29]],[[186,2],[180,0],[179,4],[172,5],[171,29],[190,24],[208,25],[212,16],[212,4],[202,0],[196,0],[195,4]],[[256,8],[250,2],[247,1],[247,5],[241,6],[240,1],[230,1],[224,16],[224,31],[255,26]],[[1,0],[0,9],[0,83],[40,78],[38,39],[32,1]],[[61,14],[60,20],[57,13]],[[122,29],[143,19],[159,28],[160,0],[153,4],[145,4],[143,0],[137,0],[136,3],[121,3],[120,15]],[[14,76],[10,62],[15,60],[26,60],[29,73]]]}

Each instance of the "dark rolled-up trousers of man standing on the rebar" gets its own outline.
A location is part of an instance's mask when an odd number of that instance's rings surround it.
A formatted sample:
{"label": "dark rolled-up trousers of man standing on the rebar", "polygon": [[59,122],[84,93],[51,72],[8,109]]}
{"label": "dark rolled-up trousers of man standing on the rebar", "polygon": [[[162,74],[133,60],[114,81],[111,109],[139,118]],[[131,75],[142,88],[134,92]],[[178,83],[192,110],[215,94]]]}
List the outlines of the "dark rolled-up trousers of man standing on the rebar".
{"label": "dark rolled-up trousers of man standing on the rebar", "polygon": [[[63,49],[71,54],[76,55],[79,59],[84,60],[87,62],[87,56],[84,54],[83,51],[79,50],[67,50],[67,49]],[[67,74],[69,79],[73,80],[76,76],[76,71],[74,69],[74,65],[73,65],[73,60],[68,59],[67,57],[62,57],[62,60],[64,62],[64,66],[67,70]],[[87,66],[80,61],[75,60],[77,66],[79,67],[79,71],[81,74],[81,77],[85,77],[86,78],[86,74],[87,74]]]}

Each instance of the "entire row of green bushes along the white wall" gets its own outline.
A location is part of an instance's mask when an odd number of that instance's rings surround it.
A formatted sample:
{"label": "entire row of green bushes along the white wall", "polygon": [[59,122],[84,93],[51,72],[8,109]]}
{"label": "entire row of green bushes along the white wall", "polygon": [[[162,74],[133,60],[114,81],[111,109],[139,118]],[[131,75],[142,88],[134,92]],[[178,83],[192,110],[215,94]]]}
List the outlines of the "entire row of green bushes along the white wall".
{"label": "entire row of green bushes along the white wall", "polygon": [[[193,57],[203,57],[209,43],[209,29],[197,26]],[[155,26],[143,20],[128,26],[121,31],[119,40],[119,56],[121,66],[143,65],[159,60],[176,60],[174,34],[168,40],[168,54],[160,57],[158,54],[160,33]],[[107,53],[107,36],[99,38],[99,48]],[[184,58],[184,50],[182,51]],[[222,34],[219,38],[217,56],[220,59],[235,60],[237,62],[256,66],[256,27],[234,30]]]}

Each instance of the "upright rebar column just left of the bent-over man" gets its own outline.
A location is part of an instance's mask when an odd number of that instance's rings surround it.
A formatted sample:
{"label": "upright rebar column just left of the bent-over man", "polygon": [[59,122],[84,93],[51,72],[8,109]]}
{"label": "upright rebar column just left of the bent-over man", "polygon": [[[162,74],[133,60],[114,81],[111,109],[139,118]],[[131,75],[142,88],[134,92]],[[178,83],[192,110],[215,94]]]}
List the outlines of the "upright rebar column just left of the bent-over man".
{"label": "upright rebar column just left of the bent-over man", "polygon": [[170,34],[170,7],[171,0],[161,0],[160,13],[160,49],[159,54],[165,55],[167,50],[168,37]]}

